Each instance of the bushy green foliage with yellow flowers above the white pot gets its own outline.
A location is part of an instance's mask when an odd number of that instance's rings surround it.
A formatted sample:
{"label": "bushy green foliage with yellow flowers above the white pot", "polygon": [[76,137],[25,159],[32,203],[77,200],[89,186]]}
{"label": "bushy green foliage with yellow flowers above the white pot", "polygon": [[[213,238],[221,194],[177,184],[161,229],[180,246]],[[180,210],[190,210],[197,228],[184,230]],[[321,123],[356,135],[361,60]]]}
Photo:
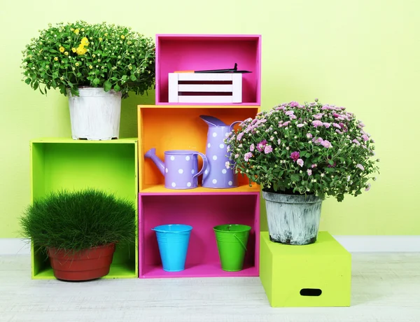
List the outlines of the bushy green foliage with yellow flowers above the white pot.
{"label": "bushy green foliage with yellow flowers above the white pot", "polygon": [[46,94],[59,89],[78,96],[79,87],[103,87],[122,97],[155,85],[155,43],[130,27],[59,22],[40,30],[22,50],[25,83]]}

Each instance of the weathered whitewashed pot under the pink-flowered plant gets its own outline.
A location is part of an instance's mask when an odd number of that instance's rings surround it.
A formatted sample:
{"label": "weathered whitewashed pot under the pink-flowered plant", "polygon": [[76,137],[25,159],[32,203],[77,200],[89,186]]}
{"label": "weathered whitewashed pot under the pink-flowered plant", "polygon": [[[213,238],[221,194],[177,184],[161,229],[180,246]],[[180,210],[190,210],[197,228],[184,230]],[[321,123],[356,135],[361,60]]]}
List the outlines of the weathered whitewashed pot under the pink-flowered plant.
{"label": "weathered whitewashed pot under the pink-flowered plant", "polygon": [[269,239],[288,245],[313,244],[318,237],[322,200],[314,195],[262,191]]}

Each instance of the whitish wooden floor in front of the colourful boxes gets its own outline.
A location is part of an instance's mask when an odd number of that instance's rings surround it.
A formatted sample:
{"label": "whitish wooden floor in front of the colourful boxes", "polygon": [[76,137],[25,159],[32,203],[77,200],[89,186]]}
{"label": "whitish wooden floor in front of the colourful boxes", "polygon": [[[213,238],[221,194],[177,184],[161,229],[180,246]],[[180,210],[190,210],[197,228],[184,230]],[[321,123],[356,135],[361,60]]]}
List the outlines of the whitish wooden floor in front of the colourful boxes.
{"label": "whitish wooden floor in front of the colourful boxes", "polygon": [[272,308],[258,278],[30,278],[27,255],[0,256],[0,321],[420,321],[420,253],[353,254],[351,307]]}

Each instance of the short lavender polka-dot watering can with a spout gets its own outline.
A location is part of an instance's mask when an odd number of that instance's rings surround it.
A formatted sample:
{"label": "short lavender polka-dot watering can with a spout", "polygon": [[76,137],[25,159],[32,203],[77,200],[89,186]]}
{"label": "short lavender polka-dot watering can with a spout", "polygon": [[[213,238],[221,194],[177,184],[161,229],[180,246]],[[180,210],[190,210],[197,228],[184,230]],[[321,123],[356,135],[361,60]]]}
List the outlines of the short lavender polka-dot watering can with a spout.
{"label": "short lavender polka-dot watering can with a spout", "polygon": [[[198,171],[198,155],[203,158],[203,167]],[[144,155],[155,162],[156,167],[165,176],[165,188],[193,189],[198,187],[198,176],[207,169],[206,155],[197,151],[165,151],[165,162],[162,162],[156,149],[151,148]]]}

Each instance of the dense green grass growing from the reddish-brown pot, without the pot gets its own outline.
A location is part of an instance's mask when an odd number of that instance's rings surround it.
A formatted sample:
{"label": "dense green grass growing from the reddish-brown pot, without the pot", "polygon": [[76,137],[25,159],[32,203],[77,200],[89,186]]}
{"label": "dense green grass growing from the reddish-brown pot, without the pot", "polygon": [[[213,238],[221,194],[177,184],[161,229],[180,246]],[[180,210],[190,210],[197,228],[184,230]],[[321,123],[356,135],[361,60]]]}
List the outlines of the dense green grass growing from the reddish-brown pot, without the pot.
{"label": "dense green grass growing from the reddish-brown pot, without the pot", "polygon": [[29,205],[20,226],[42,251],[80,251],[134,242],[136,212],[132,202],[102,190],[62,190]]}

